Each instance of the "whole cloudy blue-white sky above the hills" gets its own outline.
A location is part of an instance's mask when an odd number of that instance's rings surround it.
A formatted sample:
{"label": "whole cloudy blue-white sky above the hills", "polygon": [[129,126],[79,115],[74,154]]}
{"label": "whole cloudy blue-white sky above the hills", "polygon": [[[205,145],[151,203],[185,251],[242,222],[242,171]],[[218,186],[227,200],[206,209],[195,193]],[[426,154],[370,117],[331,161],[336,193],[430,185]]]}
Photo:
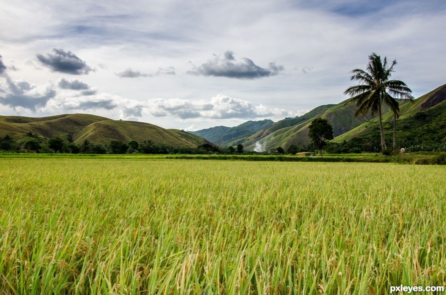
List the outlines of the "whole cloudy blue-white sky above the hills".
{"label": "whole cloudy blue-white sky above the hills", "polygon": [[445,12],[444,0],[3,1],[0,115],[189,131],[277,121],[347,99],[372,52],[419,97],[446,83]]}

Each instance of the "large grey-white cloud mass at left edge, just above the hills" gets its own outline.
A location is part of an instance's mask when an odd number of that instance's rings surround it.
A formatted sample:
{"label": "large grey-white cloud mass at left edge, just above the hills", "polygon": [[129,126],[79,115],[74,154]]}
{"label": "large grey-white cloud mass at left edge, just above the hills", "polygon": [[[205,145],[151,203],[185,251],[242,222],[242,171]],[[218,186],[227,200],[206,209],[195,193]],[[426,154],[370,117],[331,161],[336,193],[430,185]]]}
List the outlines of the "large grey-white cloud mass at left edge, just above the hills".
{"label": "large grey-white cloud mass at left edge, just above the hills", "polygon": [[[49,99],[56,95],[52,84],[36,86],[29,84],[25,80],[13,81],[6,77],[7,90],[2,89],[4,96],[0,96],[0,104],[9,106],[14,110],[24,108],[35,111],[39,107],[44,107]],[[3,83],[0,84],[0,87]]]}

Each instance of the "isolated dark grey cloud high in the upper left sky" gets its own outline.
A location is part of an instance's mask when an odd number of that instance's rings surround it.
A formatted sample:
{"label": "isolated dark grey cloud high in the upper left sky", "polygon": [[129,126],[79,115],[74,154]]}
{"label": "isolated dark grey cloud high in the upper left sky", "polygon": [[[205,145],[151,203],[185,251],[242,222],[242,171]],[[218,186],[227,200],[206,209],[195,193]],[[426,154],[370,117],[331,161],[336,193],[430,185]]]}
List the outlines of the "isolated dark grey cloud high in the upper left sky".
{"label": "isolated dark grey cloud high in the upper left sky", "polygon": [[72,75],[87,75],[94,71],[85,61],[81,60],[71,51],[66,52],[62,48],[52,48],[54,54],[47,53],[46,56],[37,53],[35,56],[40,63],[54,72],[62,72]]}

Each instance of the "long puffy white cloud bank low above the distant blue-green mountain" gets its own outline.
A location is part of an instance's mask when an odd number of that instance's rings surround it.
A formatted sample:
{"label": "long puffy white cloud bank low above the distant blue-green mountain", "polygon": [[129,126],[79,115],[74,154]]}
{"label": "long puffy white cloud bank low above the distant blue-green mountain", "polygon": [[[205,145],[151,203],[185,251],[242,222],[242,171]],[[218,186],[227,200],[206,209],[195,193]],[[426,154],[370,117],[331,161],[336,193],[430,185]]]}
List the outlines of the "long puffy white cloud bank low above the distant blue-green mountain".
{"label": "long puffy white cloud bank low above the distant blue-green mountain", "polygon": [[291,111],[270,108],[262,104],[254,106],[242,99],[218,94],[209,101],[188,99],[150,99],[144,109],[155,117],[173,116],[179,119],[253,119],[294,116]]}

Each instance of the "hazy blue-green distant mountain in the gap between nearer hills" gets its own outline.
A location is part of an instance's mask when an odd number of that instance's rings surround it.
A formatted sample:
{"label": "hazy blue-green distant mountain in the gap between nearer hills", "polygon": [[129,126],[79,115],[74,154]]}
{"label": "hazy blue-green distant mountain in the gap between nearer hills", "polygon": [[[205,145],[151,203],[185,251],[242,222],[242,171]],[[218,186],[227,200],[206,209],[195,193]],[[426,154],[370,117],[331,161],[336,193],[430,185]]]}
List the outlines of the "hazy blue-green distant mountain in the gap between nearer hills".
{"label": "hazy blue-green distant mountain in the gap between nearer hills", "polygon": [[190,133],[219,146],[231,146],[244,142],[253,133],[274,124],[271,120],[247,121],[235,127],[216,126]]}

